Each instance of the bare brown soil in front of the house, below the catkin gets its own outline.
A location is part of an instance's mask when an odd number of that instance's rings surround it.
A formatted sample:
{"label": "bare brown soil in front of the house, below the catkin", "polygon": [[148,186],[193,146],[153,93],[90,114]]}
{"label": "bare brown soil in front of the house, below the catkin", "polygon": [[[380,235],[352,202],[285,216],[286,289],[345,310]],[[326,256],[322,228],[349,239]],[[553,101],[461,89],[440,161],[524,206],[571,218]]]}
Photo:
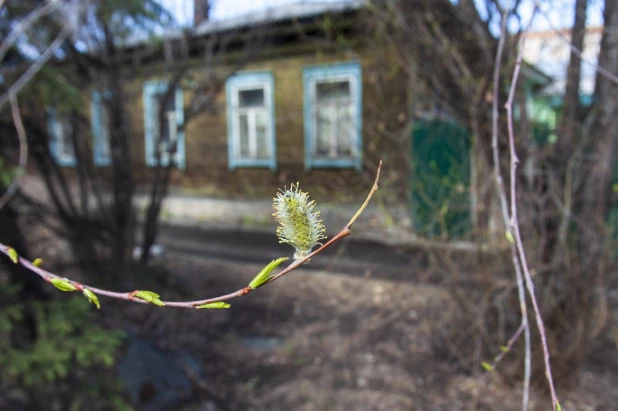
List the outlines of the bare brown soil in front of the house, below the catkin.
{"label": "bare brown soil in front of the house, below the catkin", "polygon": [[[165,299],[219,295],[248,284],[262,266],[171,253]],[[521,387],[499,369],[466,375],[432,349],[429,311],[449,307],[438,286],[297,270],[227,310],[161,309],[101,299],[101,321],[186,349],[199,359],[197,410],[519,410]],[[377,277],[377,278],[376,278]],[[252,347],[247,338],[273,342]],[[618,409],[617,351],[592,361],[579,387],[560,391],[565,410]],[[531,392],[530,410],[549,410]]]}

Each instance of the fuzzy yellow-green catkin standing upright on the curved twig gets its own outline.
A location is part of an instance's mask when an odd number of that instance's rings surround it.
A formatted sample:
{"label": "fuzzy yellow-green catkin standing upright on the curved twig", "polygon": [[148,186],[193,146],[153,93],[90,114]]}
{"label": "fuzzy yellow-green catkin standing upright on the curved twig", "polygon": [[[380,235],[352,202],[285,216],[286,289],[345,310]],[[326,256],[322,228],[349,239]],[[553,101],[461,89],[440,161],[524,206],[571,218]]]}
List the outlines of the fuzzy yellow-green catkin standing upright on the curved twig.
{"label": "fuzzy yellow-green catkin standing upright on the curved twig", "polygon": [[292,184],[289,190],[281,190],[273,199],[275,213],[279,222],[277,236],[280,243],[288,243],[296,252],[294,258],[300,260],[311,252],[313,247],[326,238],[324,225],[319,219],[320,212],[313,211],[315,201],[309,201],[309,194]]}

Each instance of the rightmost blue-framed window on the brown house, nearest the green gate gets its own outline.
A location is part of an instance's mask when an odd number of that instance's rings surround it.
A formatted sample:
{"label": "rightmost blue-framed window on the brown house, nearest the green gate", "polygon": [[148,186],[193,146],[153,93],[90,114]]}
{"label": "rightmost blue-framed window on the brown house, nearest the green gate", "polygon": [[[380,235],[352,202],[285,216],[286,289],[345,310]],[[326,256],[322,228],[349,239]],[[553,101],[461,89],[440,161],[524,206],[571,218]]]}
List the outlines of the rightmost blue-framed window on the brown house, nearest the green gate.
{"label": "rightmost blue-framed window on the brown house, nearest the green gate", "polygon": [[362,167],[362,75],[357,62],[303,69],[305,169]]}

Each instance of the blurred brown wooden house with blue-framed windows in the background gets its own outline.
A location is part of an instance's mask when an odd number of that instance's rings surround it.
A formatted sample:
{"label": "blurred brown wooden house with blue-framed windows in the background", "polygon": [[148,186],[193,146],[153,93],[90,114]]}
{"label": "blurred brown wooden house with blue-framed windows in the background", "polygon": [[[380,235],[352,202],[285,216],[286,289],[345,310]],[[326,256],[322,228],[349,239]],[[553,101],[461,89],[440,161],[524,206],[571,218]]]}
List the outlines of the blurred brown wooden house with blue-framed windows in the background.
{"label": "blurred brown wooden house with blue-framed windows in the background", "polygon": [[[384,201],[409,224],[410,138],[383,132],[406,121],[405,79],[386,72],[388,50],[367,42],[365,2],[298,3],[217,21],[203,18],[201,3],[193,27],[118,51],[130,71],[137,204],[145,207],[157,166],[169,165],[164,218],[272,225],[278,188],[300,181],[319,202],[357,204],[383,160]],[[93,140],[84,153],[103,172],[112,164],[113,102],[104,83],[87,86]],[[49,113],[50,151],[58,165],[75,167],[70,113]],[[235,199],[244,203],[220,201]]]}

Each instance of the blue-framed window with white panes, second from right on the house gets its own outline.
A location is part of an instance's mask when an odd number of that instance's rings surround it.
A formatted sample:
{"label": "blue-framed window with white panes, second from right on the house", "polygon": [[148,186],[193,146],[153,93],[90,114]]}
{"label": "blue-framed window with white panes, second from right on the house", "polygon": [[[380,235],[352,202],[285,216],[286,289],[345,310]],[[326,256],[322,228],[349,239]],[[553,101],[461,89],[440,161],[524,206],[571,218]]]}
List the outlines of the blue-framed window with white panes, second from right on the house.
{"label": "blue-framed window with white panes, second from right on the house", "polygon": [[277,169],[275,80],[272,73],[238,73],[226,85],[228,165]]}

